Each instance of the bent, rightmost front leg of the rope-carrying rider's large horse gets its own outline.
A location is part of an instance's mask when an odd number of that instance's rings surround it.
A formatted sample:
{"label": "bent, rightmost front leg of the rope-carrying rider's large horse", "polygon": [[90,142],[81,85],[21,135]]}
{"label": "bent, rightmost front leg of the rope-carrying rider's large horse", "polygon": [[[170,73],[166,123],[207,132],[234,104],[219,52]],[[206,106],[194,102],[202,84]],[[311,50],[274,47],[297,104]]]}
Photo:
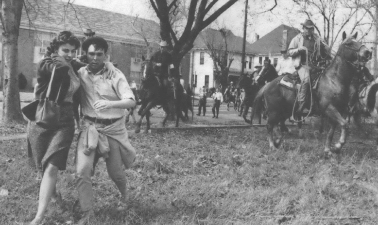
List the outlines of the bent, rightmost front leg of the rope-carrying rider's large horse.
{"label": "bent, rightmost front leg of the rope-carrying rider's large horse", "polygon": [[[335,144],[335,150],[333,151],[334,153],[341,153],[341,149],[343,148],[345,144],[345,139],[346,139],[346,132],[347,132],[347,122],[344,120],[342,115],[337,111],[337,109],[333,105],[329,105],[326,110],[326,115],[333,121],[333,126],[336,127],[337,123],[340,124],[341,126],[341,135],[339,142]],[[335,129],[333,129],[335,130]],[[332,140],[332,139],[331,139]]]}

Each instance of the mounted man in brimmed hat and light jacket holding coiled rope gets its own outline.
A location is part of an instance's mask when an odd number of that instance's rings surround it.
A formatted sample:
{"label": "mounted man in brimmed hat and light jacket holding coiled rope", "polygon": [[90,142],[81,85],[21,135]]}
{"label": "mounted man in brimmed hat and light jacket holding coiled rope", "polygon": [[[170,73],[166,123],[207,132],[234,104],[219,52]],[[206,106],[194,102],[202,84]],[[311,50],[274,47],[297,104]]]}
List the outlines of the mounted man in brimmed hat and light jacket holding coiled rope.
{"label": "mounted man in brimmed hat and light jacket holding coiled rope", "polygon": [[308,115],[309,109],[306,108],[306,99],[310,88],[310,77],[312,74],[321,70],[321,61],[330,58],[329,47],[325,41],[314,34],[315,24],[306,19],[301,23],[303,33],[296,35],[290,42],[288,53],[292,57],[292,63],[301,79],[301,88],[298,92],[299,107],[297,113]]}

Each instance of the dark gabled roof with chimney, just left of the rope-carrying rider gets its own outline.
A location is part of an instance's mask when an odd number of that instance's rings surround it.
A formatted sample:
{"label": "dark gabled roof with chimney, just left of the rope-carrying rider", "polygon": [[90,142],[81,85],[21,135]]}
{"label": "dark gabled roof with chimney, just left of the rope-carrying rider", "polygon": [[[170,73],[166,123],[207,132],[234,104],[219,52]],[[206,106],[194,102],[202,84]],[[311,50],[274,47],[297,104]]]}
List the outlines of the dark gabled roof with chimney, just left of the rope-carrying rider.
{"label": "dark gabled roof with chimney, just left of the rope-carrying rider", "polygon": [[300,33],[296,28],[281,24],[267,35],[261,37],[251,45],[251,51],[258,54],[280,53],[282,47],[282,32],[288,30],[288,46],[292,38]]}

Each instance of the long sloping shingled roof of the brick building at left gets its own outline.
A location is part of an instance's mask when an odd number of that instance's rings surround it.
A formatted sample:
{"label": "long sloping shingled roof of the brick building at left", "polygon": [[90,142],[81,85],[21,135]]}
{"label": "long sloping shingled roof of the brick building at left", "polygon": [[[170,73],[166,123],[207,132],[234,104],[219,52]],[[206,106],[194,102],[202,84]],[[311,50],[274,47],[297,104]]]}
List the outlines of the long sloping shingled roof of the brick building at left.
{"label": "long sloping shingled roof of the brick building at left", "polygon": [[[105,39],[120,42],[135,42],[144,45],[142,36],[133,30],[132,23],[135,17],[89,8],[82,5],[72,6],[59,0],[28,1],[22,11],[21,28],[60,32],[72,31],[77,36],[84,36],[86,29],[92,29],[96,35]],[[37,2],[37,3],[36,3]],[[30,22],[29,19],[30,18]],[[159,24],[152,20],[137,18],[135,27],[143,32],[150,41],[157,42],[159,37]]]}

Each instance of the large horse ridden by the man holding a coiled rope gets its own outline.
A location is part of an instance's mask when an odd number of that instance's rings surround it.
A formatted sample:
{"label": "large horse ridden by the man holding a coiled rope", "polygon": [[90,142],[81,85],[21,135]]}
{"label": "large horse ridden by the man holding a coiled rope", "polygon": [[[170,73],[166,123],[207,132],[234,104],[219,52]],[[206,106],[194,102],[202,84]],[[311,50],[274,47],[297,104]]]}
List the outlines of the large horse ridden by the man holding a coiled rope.
{"label": "large horse ridden by the man holding a coiled rope", "polygon": [[[313,99],[317,105],[317,113],[329,118],[330,127],[327,132],[324,151],[327,154],[341,153],[345,144],[347,121],[345,115],[348,104],[348,92],[352,76],[360,63],[371,58],[366,46],[356,40],[357,33],[346,37],[343,33],[343,41],[339,46],[335,58],[318,78],[317,86],[312,90]],[[296,103],[295,90],[279,85],[282,77],[265,85],[259,90],[253,105],[252,117],[261,112],[263,100],[268,111],[267,132],[269,147],[277,149],[282,141],[282,135],[273,140],[273,129],[280,121],[288,119],[293,112]],[[331,142],[336,125],[341,125],[339,141],[331,149]],[[299,125],[299,123],[298,123]]]}

